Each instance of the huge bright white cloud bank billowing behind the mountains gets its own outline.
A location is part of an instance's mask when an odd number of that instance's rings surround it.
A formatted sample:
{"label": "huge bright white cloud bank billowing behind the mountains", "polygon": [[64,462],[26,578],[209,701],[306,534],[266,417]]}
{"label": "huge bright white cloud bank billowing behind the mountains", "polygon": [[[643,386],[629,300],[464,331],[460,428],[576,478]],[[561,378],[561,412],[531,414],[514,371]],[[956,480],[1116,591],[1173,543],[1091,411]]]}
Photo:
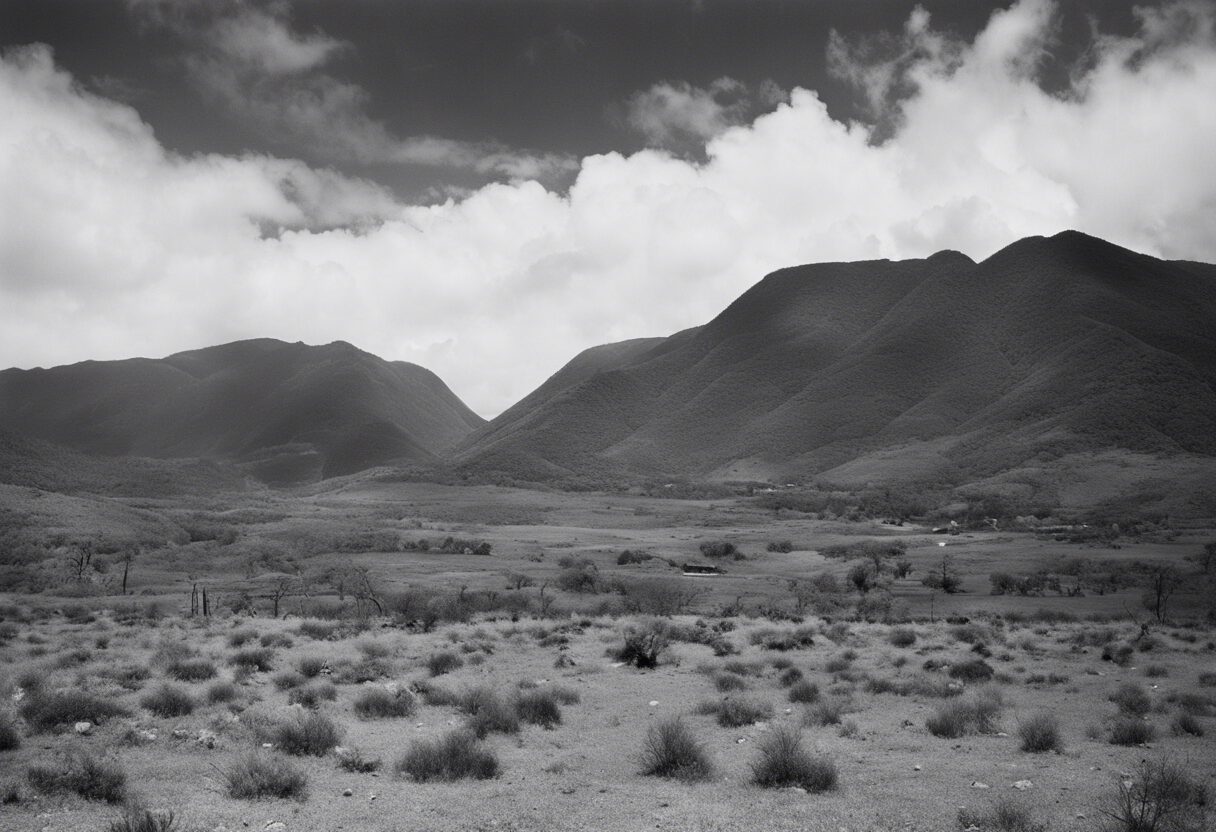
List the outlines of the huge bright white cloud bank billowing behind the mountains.
{"label": "huge bright white cloud bank billowing behind the mountains", "polygon": [[886,135],[795,89],[715,123],[697,159],[591,156],[564,192],[520,176],[430,206],[291,159],[174,154],[46,47],[10,51],[0,355],[342,338],[435,370],[492,415],[579,349],[702,324],[790,264],[979,258],[1066,227],[1216,262],[1212,15],[1143,11],[1137,34],[1096,38],[1057,92],[1034,58],[1049,4],[1023,0],[970,41],[914,15],[893,36],[940,49],[900,62]]}

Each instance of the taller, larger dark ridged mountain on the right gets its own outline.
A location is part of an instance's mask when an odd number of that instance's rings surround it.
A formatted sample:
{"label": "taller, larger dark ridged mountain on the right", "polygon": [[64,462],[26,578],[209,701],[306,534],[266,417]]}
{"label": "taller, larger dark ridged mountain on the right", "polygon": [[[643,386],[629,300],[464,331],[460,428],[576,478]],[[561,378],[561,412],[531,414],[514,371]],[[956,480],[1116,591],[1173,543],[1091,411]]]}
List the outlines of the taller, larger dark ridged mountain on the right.
{"label": "taller, larger dark ridged mountain on the right", "polygon": [[704,326],[582,353],[451,459],[957,484],[1111,448],[1216,455],[1216,266],[1069,231],[783,269]]}

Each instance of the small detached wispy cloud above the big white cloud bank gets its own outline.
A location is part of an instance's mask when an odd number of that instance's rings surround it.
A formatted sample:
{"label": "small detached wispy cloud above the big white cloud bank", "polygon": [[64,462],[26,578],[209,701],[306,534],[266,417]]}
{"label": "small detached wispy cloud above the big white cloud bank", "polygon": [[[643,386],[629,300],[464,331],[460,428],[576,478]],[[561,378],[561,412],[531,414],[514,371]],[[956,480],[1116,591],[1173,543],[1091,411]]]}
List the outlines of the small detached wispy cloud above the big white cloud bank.
{"label": "small detached wispy cloud above the big white cloud bank", "polygon": [[662,81],[630,96],[625,123],[652,147],[700,148],[726,128],[771,111],[786,99],[773,81],[755,90],[733,78],[719,78],[705,88]]}

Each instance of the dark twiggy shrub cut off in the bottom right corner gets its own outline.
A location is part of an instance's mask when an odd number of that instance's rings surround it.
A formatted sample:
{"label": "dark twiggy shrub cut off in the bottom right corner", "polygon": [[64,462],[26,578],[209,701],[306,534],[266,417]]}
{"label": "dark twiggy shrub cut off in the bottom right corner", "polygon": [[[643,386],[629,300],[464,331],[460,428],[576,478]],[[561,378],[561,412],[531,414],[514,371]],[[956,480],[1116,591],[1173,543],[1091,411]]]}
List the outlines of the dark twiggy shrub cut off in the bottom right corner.
{"label": "dark twiggy shrub cut off in the bottom right corner", "polygon": [[1135,777],[1121,780],[1102,814],[1109,832],[1198,832],[1205,825],[1207,794],[1186,769],[1165,759],[1144,760]]}

